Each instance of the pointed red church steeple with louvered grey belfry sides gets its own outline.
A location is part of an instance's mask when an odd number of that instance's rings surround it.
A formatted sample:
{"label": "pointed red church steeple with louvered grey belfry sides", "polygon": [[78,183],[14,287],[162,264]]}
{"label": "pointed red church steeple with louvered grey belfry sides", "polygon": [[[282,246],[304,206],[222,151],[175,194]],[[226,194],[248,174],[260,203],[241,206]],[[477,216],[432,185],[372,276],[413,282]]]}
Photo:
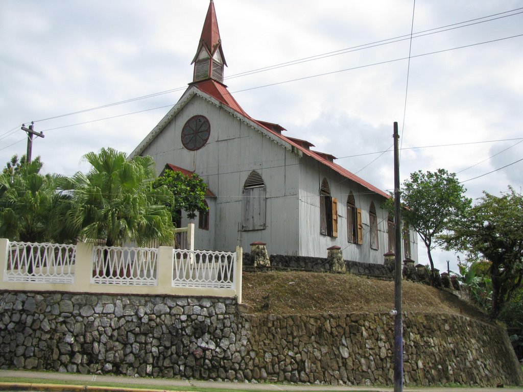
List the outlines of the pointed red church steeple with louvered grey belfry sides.
{"label": "pointed red church steeple with louvered grey belfry sides", "polygon": [[201,30],[200,43],[195,58],[191,64],[195,65],[192,82],[205,79],[214,79],[223,83],[223,67],[227,65],[223,56],[222,41],[218,30],[218,21],[214,3],[211,0],[207,16]]}

